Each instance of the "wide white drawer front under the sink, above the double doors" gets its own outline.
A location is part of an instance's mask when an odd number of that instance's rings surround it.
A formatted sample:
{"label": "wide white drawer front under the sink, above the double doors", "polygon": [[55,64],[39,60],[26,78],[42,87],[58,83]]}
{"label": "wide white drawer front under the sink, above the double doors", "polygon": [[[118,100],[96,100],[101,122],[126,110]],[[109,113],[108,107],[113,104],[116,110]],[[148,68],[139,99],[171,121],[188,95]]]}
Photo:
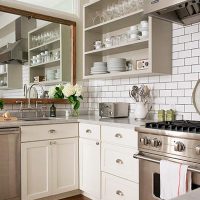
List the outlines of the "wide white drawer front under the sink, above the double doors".
{"label": "wide white drawer front under the sink, above the double doors", "polygon": [[78,137],[78,123],[21,127],[22,142],[69,137]]}

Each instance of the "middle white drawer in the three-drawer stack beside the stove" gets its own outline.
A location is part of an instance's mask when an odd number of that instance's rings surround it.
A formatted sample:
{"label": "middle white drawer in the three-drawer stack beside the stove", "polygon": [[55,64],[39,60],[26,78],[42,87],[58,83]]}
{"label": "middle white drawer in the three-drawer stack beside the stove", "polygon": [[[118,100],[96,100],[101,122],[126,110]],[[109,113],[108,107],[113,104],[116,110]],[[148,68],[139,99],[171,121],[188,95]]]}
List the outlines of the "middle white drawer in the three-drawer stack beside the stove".
{"label": "middle white drawer in the three-drawer stack beside the stove", "polygon": [[139,161],[133,158],[137,150],[102,145],[102,171],[139,183]]}

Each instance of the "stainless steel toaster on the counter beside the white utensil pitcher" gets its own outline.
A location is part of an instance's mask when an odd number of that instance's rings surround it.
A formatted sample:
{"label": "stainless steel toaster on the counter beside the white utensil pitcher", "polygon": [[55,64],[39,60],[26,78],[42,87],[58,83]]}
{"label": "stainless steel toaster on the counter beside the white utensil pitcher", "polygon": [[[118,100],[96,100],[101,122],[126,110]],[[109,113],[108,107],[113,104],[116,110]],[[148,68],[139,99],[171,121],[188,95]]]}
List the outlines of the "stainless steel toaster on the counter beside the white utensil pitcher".
{"label": "stainless steel toaster on the counter beside the white utensil pitcher", "polygon": [[129,104],[128,103],[99,103],[99,116],[120,118],[129,116]]}

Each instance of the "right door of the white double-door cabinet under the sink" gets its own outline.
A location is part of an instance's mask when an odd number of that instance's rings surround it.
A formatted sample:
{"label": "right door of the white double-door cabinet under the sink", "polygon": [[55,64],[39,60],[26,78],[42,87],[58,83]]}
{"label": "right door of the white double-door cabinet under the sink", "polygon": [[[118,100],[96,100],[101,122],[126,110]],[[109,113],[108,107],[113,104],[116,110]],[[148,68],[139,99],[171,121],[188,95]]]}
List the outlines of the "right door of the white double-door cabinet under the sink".
{"label": "right door of the white double-door cabinet under the sink", "polygon": [[78,189],[78,138],[53,142],[53,194]]}

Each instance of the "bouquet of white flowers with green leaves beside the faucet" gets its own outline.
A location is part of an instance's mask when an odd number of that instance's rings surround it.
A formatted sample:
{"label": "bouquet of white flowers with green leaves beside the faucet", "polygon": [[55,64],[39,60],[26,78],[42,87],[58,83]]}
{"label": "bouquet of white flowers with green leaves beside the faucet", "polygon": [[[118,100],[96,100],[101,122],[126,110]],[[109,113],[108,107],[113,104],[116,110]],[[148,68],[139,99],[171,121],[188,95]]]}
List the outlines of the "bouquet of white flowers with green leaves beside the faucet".
{"label": "bouquet of white flowers with green leaves beside the faucet", "polygon": [[56,99],[67,99],[72,105],[74,114],[78,115],[80,100],[83,100],[82,86],[78,84],[72,85],[71,83],[67,83],[66,85],[56,85],[49,89],[49,97]]}

